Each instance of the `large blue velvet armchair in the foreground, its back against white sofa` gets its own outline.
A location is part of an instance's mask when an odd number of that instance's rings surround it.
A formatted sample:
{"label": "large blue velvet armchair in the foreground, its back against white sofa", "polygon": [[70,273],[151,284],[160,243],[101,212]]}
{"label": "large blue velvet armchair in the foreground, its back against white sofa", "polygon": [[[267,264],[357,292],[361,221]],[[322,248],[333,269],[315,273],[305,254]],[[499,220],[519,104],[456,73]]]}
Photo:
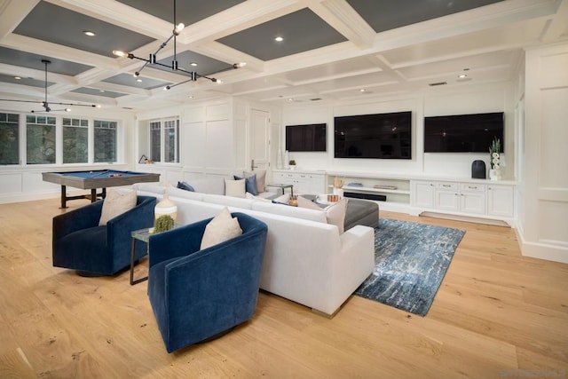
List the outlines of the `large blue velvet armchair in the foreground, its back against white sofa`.
{"label": "large blue velvet armchair in the foreground, its back against white sofa", "polygon": [[200,250],[210,219],[150,237],[148,296],[168,352],[225,334],[252,318],[267,226],[233,213],[242,234]]}

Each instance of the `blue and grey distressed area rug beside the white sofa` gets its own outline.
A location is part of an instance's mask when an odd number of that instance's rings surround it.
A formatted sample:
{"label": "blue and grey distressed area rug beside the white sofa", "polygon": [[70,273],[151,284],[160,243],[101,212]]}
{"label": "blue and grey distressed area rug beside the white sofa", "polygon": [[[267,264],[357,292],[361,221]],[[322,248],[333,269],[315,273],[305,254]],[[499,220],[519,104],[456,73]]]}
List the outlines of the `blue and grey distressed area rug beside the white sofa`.
{"label": "blue and grey distressed area rug beside the white sofa", "polygon": [[355,295],[425,316],[464,234],[382,218],[375,228],[375,271]]}

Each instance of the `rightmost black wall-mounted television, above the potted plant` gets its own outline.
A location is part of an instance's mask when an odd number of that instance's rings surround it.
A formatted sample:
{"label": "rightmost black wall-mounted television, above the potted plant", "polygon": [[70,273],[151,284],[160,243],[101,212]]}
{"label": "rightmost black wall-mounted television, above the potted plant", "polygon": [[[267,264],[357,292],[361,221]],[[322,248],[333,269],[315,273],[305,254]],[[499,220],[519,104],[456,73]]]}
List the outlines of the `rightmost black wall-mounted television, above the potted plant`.
{"label": "rightmost black wall-mounted television, above the potted plant", "polygon": [[424,117],[424,153],[488,153],[493,138],[501,140],[504,114],[457,114]]}

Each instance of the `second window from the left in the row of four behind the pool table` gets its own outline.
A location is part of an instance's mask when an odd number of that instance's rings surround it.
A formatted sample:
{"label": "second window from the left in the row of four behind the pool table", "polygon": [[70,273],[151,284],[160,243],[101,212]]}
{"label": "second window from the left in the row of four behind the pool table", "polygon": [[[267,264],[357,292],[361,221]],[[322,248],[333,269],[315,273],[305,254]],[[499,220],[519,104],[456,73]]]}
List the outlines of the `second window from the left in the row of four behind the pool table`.
{"label": "second window from the left in the row of four behind the pool table", "polygon": [[26,116],[28,164],[55,163],[55,117]]}

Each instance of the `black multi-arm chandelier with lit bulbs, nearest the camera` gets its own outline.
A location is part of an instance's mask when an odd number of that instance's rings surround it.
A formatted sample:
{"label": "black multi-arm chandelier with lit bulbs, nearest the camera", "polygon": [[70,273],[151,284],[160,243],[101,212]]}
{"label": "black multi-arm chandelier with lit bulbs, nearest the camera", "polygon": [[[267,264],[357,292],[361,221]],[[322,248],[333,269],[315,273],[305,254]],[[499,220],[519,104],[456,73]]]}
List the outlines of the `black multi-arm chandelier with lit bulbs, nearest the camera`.
{"label": "black multi-arm chandelier with lit bulbs, nearest the camera", "polygon": [[[183,68],[179,68],[178,64],[177,64],[177,46],[176,46],[176,37],[179,36],[179,33],[181,33],[181,31],[185,28],[185,25],[183,22],[180,22],[179,24],[176,24],[176,0],[174,0],[174,29],[171,33],[171,36],[160,45],[160,47],[158,48],[158,50],[156,50],[154,52],[154,54],[150,54],[150,56],[148,57],[148,59],[144,59],[144,58],[140,58],[137,57],[136,55],[132,54],[131,52],[124,52],[124,51],[120,51],[120,50],[114,50],[113,54],[116,55],[117,57],[125,57],[125,58],[130,58],[130,59],[138,59],[138,60],[143,60],[145,63],[144,65],[137,71],[134,73],[134,77],[138,77],[140,75],[140,73],[142,72],[142,70],[148,66],[148,65],[153,65],[153,66],[161,66],[161,67],[166,67],[166,68],[170,68],[172,71],[174,72],[180,72],[180,73],[184,73],[189,75],[189,79],[185,80],[184,82],[181,83],[177,83],[177,84],[171,84],[171,85],[166,85],[164,87],[164,90],[168,91],[170,89],[172,89],[173,87],[177,87],[180,84],[184,84],[187,82],[196,82],[198,78],[202,77],[204,79],[209,79],[211,82],[213,83],[222,83],[219,79],[216,79],[214,77],[210,77],[207,75],[200,75],[195,71],[186,71]],[[156,55],[158,54],[158,52],[160,52],[164,47],[166,47],[166,45],[171,41],[171,39],[173,38],[174,40],[174,58],[171,61],[171,66],[168,65],[164,65],[163,63],[160,63],[157,61],[156,59]],[[227,67],[227,69],[230,68],[241,68],[243,66],[245,66],[246,63],[234,63],[232,67]],[[225,70],[224,70],[225,71]]]}

